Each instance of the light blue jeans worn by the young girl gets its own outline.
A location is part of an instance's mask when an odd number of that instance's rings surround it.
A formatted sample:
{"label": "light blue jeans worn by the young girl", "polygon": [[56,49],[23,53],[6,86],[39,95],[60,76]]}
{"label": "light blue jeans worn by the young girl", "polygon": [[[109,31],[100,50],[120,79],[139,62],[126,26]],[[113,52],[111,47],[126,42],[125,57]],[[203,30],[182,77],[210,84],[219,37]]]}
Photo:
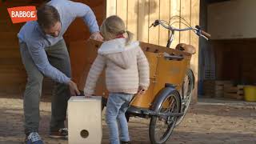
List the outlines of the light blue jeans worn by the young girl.
{"label": "light blue jeans worn by the young girl", "polygon": [[119,144],[118,124],[120,127],[120,140],[130,141],[126,110],[134,94],[110,93],[106,104],[106,123],[110,130],[110,143]]}

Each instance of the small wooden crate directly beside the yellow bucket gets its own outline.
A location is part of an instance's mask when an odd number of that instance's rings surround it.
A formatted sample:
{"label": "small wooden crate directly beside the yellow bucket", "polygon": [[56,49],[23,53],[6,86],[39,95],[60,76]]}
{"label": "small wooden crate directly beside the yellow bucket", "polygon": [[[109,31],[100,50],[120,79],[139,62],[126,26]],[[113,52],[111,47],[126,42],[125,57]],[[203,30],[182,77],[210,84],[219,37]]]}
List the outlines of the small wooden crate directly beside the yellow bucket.
{"label": "small wooden crate directly beside the yellow bucket", "polygon": [[244,98],[243,85],[224,86],[224,98],[242,100]]}

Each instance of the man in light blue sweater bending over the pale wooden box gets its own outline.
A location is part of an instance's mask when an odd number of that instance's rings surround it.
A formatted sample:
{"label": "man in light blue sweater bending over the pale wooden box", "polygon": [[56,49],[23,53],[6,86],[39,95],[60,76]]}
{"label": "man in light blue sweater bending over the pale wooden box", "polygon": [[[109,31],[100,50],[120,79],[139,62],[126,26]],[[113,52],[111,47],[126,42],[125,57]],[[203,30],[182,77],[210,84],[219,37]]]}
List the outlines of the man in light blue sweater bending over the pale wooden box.
{"label": "man in light blue sweater bending over the pale wooden box", "polygon": [[52,0],[41,6],[37,22],[26,22],[18,33],[22,62],[28,75],[24,93],[26,143],[41,144],[38,135],[39,102],[44,76],[57,82],[52,105],[50,137],[66,138],[67,101],[72,94],[79,94],[72,82],[70,58],[62,35],[75,18],[80,17],[90,28],[91,37],[102,40],[94,13],[89,6],[79,2]]}

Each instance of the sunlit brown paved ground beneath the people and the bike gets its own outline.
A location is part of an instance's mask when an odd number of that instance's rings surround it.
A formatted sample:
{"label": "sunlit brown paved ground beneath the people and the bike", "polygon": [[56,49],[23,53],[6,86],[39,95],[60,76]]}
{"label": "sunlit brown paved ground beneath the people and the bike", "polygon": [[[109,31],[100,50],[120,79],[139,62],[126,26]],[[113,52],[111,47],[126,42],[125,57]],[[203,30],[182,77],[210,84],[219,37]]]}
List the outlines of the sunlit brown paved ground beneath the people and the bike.
{"label": "sunlit brown paved ground beneath the people and the bike", "polygon": [[[67,144],[66,140],[48,138],[50,102],[42,98],[39,134],[45,143]],[[0,97],[0,144],[22,143],[23,110],[22,99]],[[102,143],[108,143],[108,130],[102,121]],[[149,119],[131,118],[129,122],[132,143],[150,143]],[[253,102],[227,102],[203,99],[190,106],[186,118],[175,127],[166,143],[230,143],[256,144],[256,104]]]}

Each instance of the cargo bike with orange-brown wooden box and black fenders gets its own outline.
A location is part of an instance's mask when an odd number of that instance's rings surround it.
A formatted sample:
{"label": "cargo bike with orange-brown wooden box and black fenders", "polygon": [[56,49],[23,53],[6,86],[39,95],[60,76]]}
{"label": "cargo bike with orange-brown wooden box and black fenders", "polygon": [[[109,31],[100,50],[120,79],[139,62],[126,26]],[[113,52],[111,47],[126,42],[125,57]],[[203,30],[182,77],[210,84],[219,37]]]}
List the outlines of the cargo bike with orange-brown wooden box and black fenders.
{"label": "cargo bike with orange-brown wooden box and black fenders", "polygon": [[[210,38],[210,34],[201,30],[200,26],[187,26],[178,29],[170,22],[156,20],[152,26],[163,26],[170,32],[166,47],[140,42],[142,50],[150,63],[150,86],[146,94],[135,95],[126,112],[126,118],[137,116],[150,118],[149,136],[151,143],[165,143],[170,134],[189,108],[194,90],[194,74],[190,69],[190,59],[195,53],[194,46],[184,43],[170,48],[174,40],[175,31],[192,30],[203,38]],[[151,26],[150,26],[151,27]],[[83,90],[90,65],[96,58],[97,50],[102,42],[90,40],[86,42],[86,67],[83,77],[78,83],[79,90]],[[105,75],[102,74],[96,87],[96,95],[102,95],[102,106],[106,106],[107,90]]]}

